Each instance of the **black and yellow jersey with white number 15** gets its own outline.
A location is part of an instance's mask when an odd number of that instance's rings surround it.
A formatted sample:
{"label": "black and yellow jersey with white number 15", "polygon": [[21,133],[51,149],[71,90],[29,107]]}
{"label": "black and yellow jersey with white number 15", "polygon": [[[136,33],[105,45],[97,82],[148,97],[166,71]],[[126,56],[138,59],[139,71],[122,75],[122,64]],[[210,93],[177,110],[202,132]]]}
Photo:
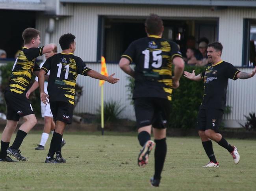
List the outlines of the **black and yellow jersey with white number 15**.
{"label": "black and yellow jersey with white number 15", "polygon": [[135,63],[133,98],[159,97],[171,100],[172,64],[176,56],[182,58],[178,45],[156,35],[132,42],[121,57]]}

